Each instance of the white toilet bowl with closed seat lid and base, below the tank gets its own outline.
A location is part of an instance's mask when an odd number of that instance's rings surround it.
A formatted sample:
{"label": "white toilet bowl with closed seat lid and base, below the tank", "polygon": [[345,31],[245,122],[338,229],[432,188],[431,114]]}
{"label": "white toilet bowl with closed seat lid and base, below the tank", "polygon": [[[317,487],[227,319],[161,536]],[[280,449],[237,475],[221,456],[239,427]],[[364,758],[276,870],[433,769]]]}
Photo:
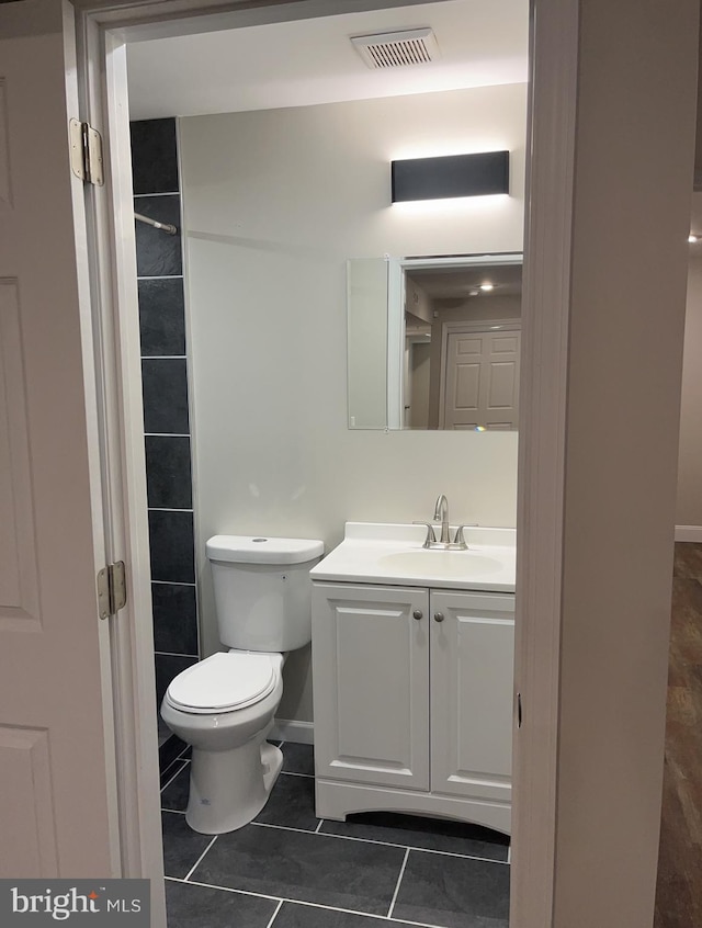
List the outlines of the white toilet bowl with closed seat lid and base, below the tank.
{"label": "white toilet bowl with closed seat lid and base, below the tank", "polygon": [[194,831],[233,831],[265,805],[283,763],[265,740],[283,694],[283,663],[281,654],[213,654],[166,691],[161,717],[192,745],[185,821]]}

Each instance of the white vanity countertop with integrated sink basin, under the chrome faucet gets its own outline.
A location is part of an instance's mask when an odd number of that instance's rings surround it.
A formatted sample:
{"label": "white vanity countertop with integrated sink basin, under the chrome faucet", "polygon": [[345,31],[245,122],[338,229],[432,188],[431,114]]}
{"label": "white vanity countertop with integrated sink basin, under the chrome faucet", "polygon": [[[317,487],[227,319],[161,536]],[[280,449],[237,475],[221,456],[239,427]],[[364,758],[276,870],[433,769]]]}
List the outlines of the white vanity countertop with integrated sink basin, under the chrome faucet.
{"label": "white vanity countertop with integrated sink basin, under the chrome faucet", "polygon": [[[451,528],[453,537],[455,527]],[[313,580],[514,592],[516,530],[466,528],[467,551],[424,548],[424,525],[347,522]]]}

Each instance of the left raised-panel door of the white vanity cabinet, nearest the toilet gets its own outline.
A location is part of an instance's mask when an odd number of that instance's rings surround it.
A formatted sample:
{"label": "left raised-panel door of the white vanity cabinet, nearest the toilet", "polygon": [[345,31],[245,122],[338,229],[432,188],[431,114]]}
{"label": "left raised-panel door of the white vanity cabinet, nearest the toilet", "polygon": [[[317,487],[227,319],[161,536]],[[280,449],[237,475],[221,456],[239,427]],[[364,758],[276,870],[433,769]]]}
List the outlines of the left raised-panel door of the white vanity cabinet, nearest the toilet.
{"label": "left raised-panel door of the white vanity cabinet, nearest the toilet", "polygon": [[422,589],[314,585],[318,777],[429,789],[428,607]]}

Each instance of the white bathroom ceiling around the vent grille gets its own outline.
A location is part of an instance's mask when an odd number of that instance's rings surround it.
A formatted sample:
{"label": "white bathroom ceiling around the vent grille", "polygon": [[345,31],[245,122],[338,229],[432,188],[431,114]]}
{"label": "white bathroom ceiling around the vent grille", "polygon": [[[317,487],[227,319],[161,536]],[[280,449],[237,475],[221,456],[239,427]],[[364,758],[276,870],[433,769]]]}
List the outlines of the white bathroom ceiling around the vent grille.
{"label": "white bathroom ceiling around the vent grille", "polygon": [[[445,0],[133,43],[129,117],[306,106],[519,83],[528,0]],[[441,57],[371,70],[352,35],[431,26]]]}

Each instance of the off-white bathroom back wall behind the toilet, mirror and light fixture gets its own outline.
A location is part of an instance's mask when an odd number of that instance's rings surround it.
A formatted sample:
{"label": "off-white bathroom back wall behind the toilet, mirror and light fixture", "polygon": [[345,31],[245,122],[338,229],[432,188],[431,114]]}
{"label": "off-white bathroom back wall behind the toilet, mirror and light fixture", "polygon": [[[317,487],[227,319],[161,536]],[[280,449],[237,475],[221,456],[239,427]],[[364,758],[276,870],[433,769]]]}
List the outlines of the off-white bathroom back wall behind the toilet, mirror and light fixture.
{"label": "off-white bathroom back wall behind the toilet, mirror and light fixture", "polygon": [[[514,525],[517,435],[347,429],[346,261],[520,251],[525,86],[183,118],[199,556],[346,520]],[[389,204],[393,158],[507,148],[510,196]],[[218,646],[202,570],[204,654]],[[281,717],[309,720],[308,653]]]}

